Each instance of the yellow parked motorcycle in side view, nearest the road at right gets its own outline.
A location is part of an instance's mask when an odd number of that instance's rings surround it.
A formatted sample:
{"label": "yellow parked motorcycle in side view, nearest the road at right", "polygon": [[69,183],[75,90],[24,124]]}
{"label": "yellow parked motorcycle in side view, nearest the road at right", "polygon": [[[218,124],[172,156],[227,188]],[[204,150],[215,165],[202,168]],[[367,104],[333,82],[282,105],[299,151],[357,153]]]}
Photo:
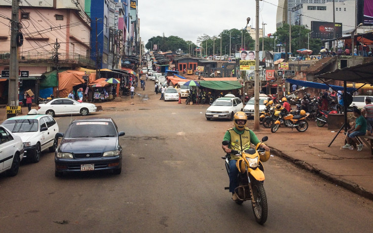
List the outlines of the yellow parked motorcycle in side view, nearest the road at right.
{"label": "yellow parked motorcycle in side view, nearest the road at right", "polygon": [[277,121],[275,121],[271,128],[271,132],[275,133],[280,128],[281,121],[285,127],[291,128],[291,130],[295,128],[299,132],[305,132],[308,129],[306,118],[309,115],[310,113],[306,113],[305,110],[301,110],[299,115],[293,115],[283,108],[278,115]]}

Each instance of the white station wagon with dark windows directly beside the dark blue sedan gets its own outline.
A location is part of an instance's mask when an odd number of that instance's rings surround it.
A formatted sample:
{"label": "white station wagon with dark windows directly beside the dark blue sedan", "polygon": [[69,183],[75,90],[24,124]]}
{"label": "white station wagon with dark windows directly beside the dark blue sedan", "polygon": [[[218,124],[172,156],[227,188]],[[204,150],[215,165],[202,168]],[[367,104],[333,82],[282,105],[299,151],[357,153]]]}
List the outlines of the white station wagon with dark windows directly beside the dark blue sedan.
{"label": "white station wagon with dark windows directly beside the dark blue sedan", "polygon": [[39,162],[43,150],[53,152],[57,148],[59,128],[50,115],[20,115],[7,119],[2,126],[21,137],[24,156],[33,163]]}

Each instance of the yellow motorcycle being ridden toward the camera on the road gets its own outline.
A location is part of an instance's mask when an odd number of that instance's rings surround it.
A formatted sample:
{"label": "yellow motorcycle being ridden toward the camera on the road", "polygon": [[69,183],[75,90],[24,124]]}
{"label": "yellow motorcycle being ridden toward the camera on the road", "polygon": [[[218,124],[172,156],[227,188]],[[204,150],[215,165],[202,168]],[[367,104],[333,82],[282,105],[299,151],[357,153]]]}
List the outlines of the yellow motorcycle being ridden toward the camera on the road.
{"label": "yellow motorcycle being ridden toward the camera on the road", "polygon": [[[265,136],[262,139],[262,142],[268,140],[268,137]],[[228,145],[229,141],[223,141],[223,145]],[[268,216],[268,204],[266,190],[263,186],[263,181],[265,180],[264,176],[264,167],[263,162],[268,161],[270,158],[269,151],[265,151],[263,148],[254,148],[246,149],[245,151],[232,150],[233,154],[239,155],[242,158],[237,160],[237,167],[239,168],[238,180],[239,186],[235,189],[238,200],[237,204],[241,205],[244,201],[251,200],[252,211],[255,216],[256,222],[259,224],[264,224],[267,221]],[[229,159],[231,155],[227,154],[221,159],[225,160],[225,165],[227,173],[229,176]],[[229,189],[229,187],[225,187]]]}

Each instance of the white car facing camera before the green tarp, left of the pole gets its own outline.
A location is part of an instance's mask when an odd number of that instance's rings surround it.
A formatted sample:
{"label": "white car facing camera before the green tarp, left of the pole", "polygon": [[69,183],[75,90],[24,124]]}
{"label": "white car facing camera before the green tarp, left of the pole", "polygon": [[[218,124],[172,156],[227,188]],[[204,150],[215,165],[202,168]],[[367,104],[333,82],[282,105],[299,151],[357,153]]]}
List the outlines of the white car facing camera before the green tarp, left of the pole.
{"label": "white car facing camera before the green tarp, left of the pole", "polygon": [[230,119],[233,121],[234,113],[242,111],[243,103],[238,97],[231,97],[228,94],[225,97],[217,98],[209,108],[207,108],[205,116],[210,119]]}

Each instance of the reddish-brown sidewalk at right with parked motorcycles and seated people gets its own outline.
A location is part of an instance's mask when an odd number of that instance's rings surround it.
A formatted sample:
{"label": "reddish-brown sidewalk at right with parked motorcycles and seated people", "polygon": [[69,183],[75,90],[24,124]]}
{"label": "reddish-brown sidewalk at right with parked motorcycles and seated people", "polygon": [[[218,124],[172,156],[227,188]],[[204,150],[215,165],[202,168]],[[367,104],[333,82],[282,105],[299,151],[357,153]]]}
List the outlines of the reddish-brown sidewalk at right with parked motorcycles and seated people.
{"label": "reddish-brown sidewalk at right with parked motorcycles and seated people", "polygon": [[361,151],[343,149],[343,130],[328,147],[338,130],[328,130],[327,125],[317,127],[314,121],[308,123],[306,132],[296,129],[291,132],[290,128],[281,126],[276,133],[271,133],[271,129],[260,126],[260,132],[255,133],[261,137],[268,136],[271,154],[373,200],[373,156],[370,148],[364,145]]}

